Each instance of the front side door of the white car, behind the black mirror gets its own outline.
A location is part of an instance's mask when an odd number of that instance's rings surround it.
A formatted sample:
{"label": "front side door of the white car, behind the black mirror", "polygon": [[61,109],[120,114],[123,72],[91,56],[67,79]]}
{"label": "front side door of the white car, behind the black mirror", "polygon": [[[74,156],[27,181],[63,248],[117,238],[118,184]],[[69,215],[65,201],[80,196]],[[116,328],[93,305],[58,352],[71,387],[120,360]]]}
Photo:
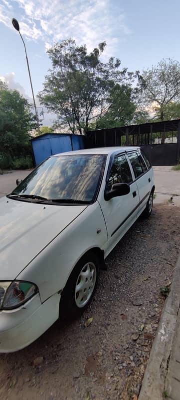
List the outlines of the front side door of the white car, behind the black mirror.
{"label": "front side door of the white car, behind the black mirror", "polygon": [[[111,190],[114,183],[128,183],[128,194],[105,200],[104,193]],[[106,185],[99,198],[108,232],[109,253],[137,218],[139,193],[136,181],[133,181],[131,169],[125,154],[115,156],[110,171],[106,177]],[[107,254],[106,254],[107,255]]]}

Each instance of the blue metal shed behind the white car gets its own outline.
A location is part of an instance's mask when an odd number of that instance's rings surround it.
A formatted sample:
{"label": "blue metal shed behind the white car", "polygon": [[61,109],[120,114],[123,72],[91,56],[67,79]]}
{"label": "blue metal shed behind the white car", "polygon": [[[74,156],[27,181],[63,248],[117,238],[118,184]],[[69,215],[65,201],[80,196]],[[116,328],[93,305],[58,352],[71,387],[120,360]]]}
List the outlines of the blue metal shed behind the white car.
{"label": "blue metal shed behind the white car", "polygon": [[84,136],[70,133],[44,133],[31,139],[34,164],[50,155],[84,148]]}

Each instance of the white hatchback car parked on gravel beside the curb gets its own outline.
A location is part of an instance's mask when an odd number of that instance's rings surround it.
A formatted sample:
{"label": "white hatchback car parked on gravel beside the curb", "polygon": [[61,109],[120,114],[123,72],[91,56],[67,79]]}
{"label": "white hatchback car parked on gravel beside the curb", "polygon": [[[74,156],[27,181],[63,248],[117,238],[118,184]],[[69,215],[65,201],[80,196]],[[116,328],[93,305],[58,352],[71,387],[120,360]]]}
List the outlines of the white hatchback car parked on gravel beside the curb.
{"label": "white hatchback car parked on gravel beside the curb", "polygon": [[53,155],[0,198],[0,352],[83,312],[104,259],[151,214],[154,190],[139,147],[104,147]]}

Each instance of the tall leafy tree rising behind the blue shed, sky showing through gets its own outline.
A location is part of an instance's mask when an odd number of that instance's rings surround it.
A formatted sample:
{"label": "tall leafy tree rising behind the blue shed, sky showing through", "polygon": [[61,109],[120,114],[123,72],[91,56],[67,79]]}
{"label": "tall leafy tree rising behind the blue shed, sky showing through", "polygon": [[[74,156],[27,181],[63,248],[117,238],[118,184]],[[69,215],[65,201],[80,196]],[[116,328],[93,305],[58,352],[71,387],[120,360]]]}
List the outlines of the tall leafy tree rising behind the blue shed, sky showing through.
{"label": "tall leafy tree rising behind the blue shed, sky showing through", "polygon": [[62,40],[47,52],[52,62],[45,76],[39,99],[57,114],[56,126],[69,127],[72,133],[88,129],[109,111],[114,101],[117,84],[131,86],[134,74],[120,69],[119,59],[100,60],[106,43],[102,42],[90,54],[85,45],[76,46],[74,40]]}

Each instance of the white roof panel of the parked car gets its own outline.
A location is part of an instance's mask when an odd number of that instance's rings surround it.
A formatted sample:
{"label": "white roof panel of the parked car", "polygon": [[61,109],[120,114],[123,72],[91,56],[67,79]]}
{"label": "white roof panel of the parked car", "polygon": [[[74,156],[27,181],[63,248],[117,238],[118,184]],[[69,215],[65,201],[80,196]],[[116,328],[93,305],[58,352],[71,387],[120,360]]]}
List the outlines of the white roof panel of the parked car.
{"label": "white roof panel of the parked car", "polygon": [[115,147],[96,147],[96,148],[84,148],[82,150],[66,151],[63,153],[54,154],[57,155],[68,155],[68,154],[112,154],[114,152],[124,153],[127,151],[137,150],[140,147],[135,146],[115,146]]}

